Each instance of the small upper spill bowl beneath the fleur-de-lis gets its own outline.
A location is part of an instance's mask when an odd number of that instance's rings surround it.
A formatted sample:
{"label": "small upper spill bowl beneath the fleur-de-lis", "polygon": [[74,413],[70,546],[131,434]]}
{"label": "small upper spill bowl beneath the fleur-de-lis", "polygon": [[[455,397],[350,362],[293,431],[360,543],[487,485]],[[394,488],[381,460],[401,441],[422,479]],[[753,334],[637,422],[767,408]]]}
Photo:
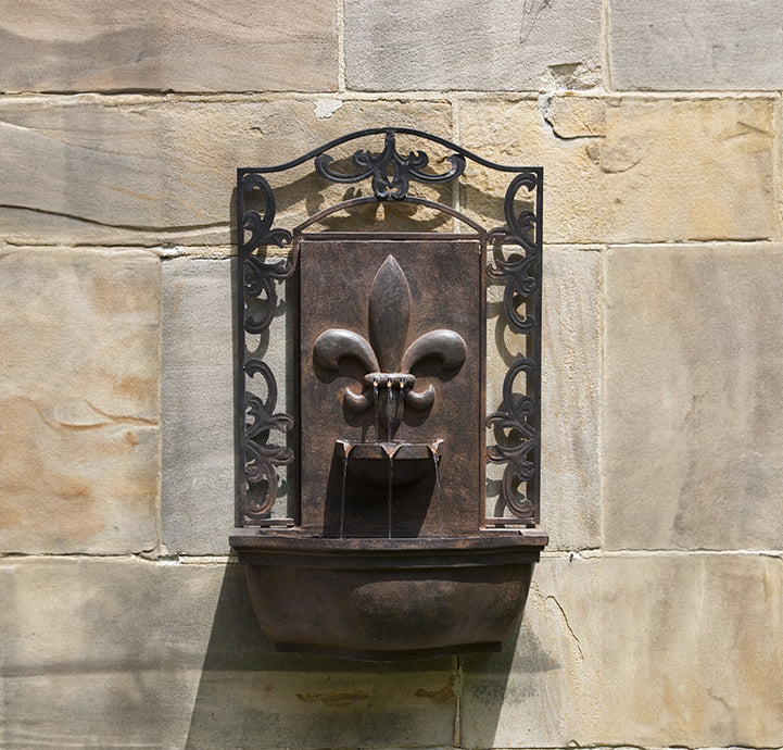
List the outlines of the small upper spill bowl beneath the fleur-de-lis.
{"label": "small upper spill bowl beneath the fleur-de-lis", "polygon": [[[434,471],[443,440],[432,442],[351,442],[338,440],[334,450],[353,476],[371,485],[407,485]],[[390,466],[391,464],[391,466]]]}

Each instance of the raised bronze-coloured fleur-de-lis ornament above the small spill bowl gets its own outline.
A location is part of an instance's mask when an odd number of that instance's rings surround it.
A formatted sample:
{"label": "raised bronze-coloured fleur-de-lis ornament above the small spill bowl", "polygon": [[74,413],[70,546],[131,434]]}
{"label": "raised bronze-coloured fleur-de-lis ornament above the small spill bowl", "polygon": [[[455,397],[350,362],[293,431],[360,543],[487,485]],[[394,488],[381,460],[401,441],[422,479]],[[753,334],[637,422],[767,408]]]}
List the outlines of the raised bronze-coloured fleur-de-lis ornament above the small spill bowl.
{"label": "raised bronze-coloured fleur-de-lis ornament above the small spill bowl", "polygon": [[435,398],[431,385],[415,390],[414,366],[427,357],[440,360],[444,370],[455,370],[465,362],[467,349],[463,337],[454,330],[439,328],[417,338],[407,349],[411,323],[411,288],[405,273],[393,255],[388,255],[372,279],[368,305],[369,341],[353,330],[330,328],[313,347],[313,360],[325,370],[339,370],[343,357],[352,357],[364,365],[366,390],[343,391],[345,404],[361,412],[374,404],[392,440],[400,425],[402,404],[415,410],[429,409]]}

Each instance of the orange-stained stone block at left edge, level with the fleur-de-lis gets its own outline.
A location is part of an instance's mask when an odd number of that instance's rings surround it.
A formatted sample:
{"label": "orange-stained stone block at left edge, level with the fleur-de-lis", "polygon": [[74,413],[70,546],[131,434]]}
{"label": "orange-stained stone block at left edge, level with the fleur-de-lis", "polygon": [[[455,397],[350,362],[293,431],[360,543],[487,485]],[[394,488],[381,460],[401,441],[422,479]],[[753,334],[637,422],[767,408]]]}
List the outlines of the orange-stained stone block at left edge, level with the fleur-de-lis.
{"label": "orange-stained stone block at left edge, level with the fleur-de-lis", "polygon": [[0,257],[0,549],[121,553],[157,541],[159,261]]}

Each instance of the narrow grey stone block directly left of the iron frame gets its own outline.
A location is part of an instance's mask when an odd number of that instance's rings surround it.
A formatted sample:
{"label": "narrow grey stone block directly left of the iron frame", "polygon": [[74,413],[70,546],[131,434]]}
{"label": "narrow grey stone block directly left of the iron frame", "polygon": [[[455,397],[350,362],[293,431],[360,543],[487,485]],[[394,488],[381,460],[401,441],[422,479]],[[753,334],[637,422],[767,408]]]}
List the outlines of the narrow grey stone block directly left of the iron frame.
{"label": "narrow grey stone block directly left of the iron frame", "polygon": [[161,537],[228,554],[235,525],[232,261],[163,262]]}

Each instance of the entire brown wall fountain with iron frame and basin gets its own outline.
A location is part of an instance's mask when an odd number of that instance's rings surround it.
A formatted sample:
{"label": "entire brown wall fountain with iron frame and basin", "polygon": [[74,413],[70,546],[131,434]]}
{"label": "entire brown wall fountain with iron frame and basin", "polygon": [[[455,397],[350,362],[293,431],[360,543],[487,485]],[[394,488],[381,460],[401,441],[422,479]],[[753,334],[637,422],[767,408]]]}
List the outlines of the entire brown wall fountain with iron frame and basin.
{"label": "entire brown wall fountain with iron frame and basin", "polygon": [[[435,171],[422,150],[401,154],[397,137],[446,149],[449,167]],[[375,138],[382,148],[355,151],[348,166],[329,153]],[[268,176],[311,161],[326,184],[369,180],[371,195],[292,230],[275,227]],[[512,176],[505,224],[489,232],[411,193],[412,183],[458,180],[468,162]],[[495,164],[413,128],[352,133],[285,164],[238,171],[242,475],[230,542],[279,650],[376,660],[497,650],[519,621],[547,542],[539,527],[542,180],[541,167]],[[378,202],[438,212],[463,230],[329,226]],[[290,252],[274,258],[268,247]],[[520,345],[489,414],[488,278],[504,287],[505,324]],[[258,353],[279,285],[294,332],[293,414],[276,413],[277,380]],[[494,499],[488,462],[503,470]]]}

